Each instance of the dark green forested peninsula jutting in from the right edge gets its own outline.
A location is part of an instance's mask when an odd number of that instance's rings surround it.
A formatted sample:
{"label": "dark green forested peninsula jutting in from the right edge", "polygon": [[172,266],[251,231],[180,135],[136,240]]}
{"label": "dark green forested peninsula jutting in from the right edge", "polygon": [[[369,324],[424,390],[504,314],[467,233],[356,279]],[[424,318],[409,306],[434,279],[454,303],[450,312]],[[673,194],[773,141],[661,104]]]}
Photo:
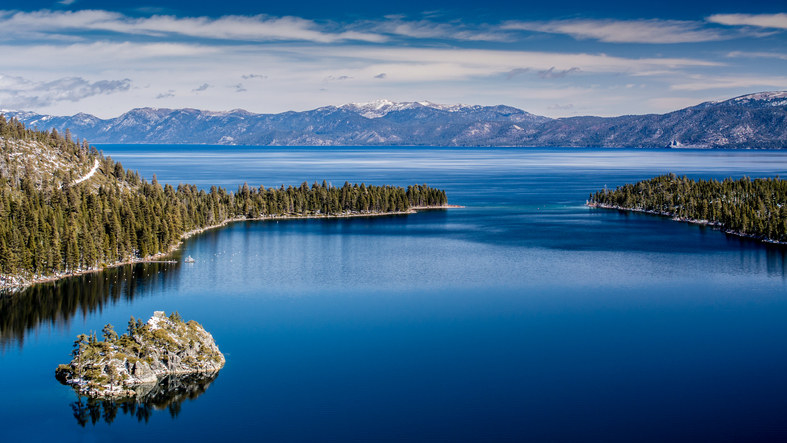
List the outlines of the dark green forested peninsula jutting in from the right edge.
{"label": "dark green forested peninsula jutting in from the right edge", "polygon": [[591,194],[593,207],[648,212],[717,226],[729,234],[787,243],[787,180],[691,180],[675,174]]}

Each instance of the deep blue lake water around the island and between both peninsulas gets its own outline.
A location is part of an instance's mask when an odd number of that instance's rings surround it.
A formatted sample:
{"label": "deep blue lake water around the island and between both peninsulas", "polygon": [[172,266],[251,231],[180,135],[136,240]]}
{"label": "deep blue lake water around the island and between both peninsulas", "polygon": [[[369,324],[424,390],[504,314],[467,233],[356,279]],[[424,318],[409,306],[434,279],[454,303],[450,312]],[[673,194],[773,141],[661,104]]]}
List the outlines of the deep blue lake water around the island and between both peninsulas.
{"label": "deep blue lake water around the island and between both peninsulas", "polygon": [[[462,209],[242,222],[0,300],[0,440],[787,439],[784,247],[590,192],[787,175],[787,152],[105,145],[160,182],[428,183]],[[54,378],[74,337],[178,310],[227,364],[160,404]]]}

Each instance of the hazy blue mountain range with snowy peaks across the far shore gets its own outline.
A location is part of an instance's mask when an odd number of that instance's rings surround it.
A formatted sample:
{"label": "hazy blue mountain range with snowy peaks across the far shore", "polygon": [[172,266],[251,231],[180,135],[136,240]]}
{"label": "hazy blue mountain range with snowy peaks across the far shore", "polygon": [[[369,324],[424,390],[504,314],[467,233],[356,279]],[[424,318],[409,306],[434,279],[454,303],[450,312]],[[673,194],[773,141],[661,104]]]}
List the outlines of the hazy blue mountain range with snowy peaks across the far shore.
{"label": "hazy blue mountain range with snowy peaks across the far shore", "polygon": [[29,127],[68,128],[91,143],[787,148],[787,91],[619,117],[549,118],[503,105],[387,100],[280,114],[137,108],[100,119],[0,112]]}

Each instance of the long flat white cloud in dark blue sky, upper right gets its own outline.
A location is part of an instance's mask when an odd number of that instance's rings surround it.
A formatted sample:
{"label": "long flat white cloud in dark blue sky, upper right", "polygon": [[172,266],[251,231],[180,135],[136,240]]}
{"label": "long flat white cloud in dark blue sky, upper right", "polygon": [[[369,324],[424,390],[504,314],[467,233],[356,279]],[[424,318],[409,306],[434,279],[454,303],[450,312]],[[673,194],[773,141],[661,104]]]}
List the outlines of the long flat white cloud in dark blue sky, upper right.
{"label": "long flat white cloud in dark blue sky, upper right", "polygon": [[703,29],[698,22],[657,19],[509,21],[502,29],[566,34],[609,43],[696,43],[728,38],[716,30]]}

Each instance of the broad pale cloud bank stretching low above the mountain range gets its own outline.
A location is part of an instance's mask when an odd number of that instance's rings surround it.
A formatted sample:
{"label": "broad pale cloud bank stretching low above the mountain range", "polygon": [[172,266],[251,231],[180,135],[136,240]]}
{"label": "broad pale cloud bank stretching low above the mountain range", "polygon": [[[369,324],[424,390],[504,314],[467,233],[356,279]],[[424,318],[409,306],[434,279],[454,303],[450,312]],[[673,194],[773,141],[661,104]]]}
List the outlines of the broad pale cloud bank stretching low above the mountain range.
{"label": "broad pale cloud bank stretching low above the mountain range", "polygon": [[[84,111],[102,117],[118,115],[133,107],[150,106],[159,93],[167,106],[211,110],[247,108],[255,112],[281,112],[380,97],[535,106],[532,100],[538,98],[544,105],[534,111],[552,114],[556,111],[547,110],[546,106],[571,102],[576,106],[572,112],[609,115],[623,105],[610,101],[609,97],[593,96],[595,88],[591,88],[591,92],[578,90],[572,73],[577,72],[576,77],[581,74],[582,84],[603,82],[610,76],[616,76],[621,79],[617,81],[623,83],[622,79],[631,76],[649,76],[648,79],[658,82],[665,75],[684,79],[686,71],[719,66],[716,62],[690,58],[304,43],[220,46],[130,42],[65,46],[6,44],[0,45],[0,53],[7,61],[3,66],[6,72],[27,78],[47,80],[59,78],[63,73],[87,77],[90,73],[105,79],[128,77],[135,85],[150,85],[150,89],[132,88],[124,92],[122,100],[100,95],[76,105],[61,101],[34,109],[26,107],[48,113]],[[47,64],[42,65],[41,60],[47,60]],[[267,76],[264,81],[257,80],[259,74],[250,77],[249,73],[261,69]],[[561,88],[545,89],[540,85],[543,80],[539,79],[539,73],[548,77],[563,75],[564,71],[568,75],[561,80],[565,82]],[[510,82],[501,81],[507,73],[520,72],[530,74],[517,77],[516,88],[512,88]],[[654,74],[656,72],[660,74]],[[375,78],[381,73],[385,73],[383,81]],[[342,76],[346,81],[338,81]],[[334,81],[326,82],[327,79]],[[239,80],[243,84],[239,84]],[[248,82],[253,82],[254,87],[249,87]],[[175,92],[192,91],[206,83],[226,87],[211,87],[199,93]],[[327,84],[330,90],[320,92]],[[242,91],[247,88],[248,91]],[[228,91],[243,93],[227,94]],[[576,96],[578,91],[586,98],[580,100]],[[633,96],[627,100],[636,108]]]}

